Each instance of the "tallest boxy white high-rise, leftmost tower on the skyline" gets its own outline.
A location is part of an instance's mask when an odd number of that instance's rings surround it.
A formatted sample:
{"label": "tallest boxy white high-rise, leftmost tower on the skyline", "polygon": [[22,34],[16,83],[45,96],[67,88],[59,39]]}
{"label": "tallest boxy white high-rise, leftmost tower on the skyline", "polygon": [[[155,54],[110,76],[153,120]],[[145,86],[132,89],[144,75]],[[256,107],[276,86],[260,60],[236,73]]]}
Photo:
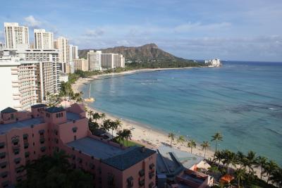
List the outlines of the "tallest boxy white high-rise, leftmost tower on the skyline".
{"label": "tallest boxy white high-rise, leftmost tower on the skyline", "polygon": [[30,39],[28,27],[19,26],[18,23],[4,23],[6,49],[27,49]]}

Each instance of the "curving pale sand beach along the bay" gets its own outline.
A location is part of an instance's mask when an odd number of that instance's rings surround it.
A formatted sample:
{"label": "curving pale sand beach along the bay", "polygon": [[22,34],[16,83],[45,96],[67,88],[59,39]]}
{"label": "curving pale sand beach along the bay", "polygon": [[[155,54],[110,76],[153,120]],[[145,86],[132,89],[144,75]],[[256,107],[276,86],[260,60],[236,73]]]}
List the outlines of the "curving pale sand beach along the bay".
{"label": "curving pale sand beach along the bay", "polygon": [[[82,84],[86,84],[87,82],[91,82],[93,80],[98,80],[100,77],[106,76],[106,75],[132,75],[136,73],[146,73],[146,72],[154,72],[154,71],[160,71],[160,70],[180,70],[180,69],[191,69],[191,68],[196,68],[196,67],[189,67],[189,68],[145,68],[145,69],[140,69],[140,70],[128,70],[125,72],[121,73],[106,73],[102,75],[94,75],[92,77],[85,77],[82,78],[80,77],[75,84],[72,84],[72,88],[74,92],[80,92],[80,87]],[[133,120],[127,120],[123,119],[120,117],[117,117],[115,115],[112,115],[110,113],[106,113],[104,111],[100,111],[97,108],[90,107],[87,103],[84,103],[85,106],[97,113],[105,113],[106,118],[109,118],[111,120],[121,120],[122,126],[121,129],[131,129],[133,137],[131,140],[134,142],[137,142],[139,144],[145,145],[148,148],[151,149],[157,149],[161,145],[169,145],[171,144],[171,140],[168,138],[168,133],[161,131],[161,130],[156,130],[152,128],[150,125],[145,125],[142,123],[135,122]],[[102,123],[102,120],[98,120],[98,123]],[[186,146],[186,144],[177,144],[176,139],[178,138],[179,135],[176,135],[174,138],[174,141],[172,143],[172,146],[174,148],[180,149],[181,151],[186,151],[190,153],[190,148]],[[211,143],[211,147],[213,146],[213,143]],[[192,149],[192,153],[197,155],[197,156],[202,156],[204,157],[204,150],[202,150],[202,147],[200,146],[200,143],[197,143],[197,146],[195,149]],[[206,158],[213,158],[214,156],[214,151],[212,149],[207,149],[206,151]]]}

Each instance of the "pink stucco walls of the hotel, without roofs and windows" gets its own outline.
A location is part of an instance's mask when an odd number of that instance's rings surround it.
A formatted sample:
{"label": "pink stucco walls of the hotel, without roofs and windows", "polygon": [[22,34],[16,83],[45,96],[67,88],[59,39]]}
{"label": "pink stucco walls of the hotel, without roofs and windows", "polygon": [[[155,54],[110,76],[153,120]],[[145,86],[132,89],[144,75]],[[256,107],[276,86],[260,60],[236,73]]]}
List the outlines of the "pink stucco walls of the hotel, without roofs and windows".
{"label": "pink stucco walls of the hotel, without roofs and windows", "polygon": [[[0,149],[0,153],[6,153],[4,158],[0,158],[0,164],[3,162],[7,163],[6,168],[1,168],[0,166],[0,187],[2,186],[2,182],[9,181],[11,184],[16,184],[17,178],[22,177],[24,179],[25,172],[16,173],[16,169],[21,165],[25,165],[27,161],[35,160],[42,155],[51,155],[51,153],[58,149],[66,151],[70,156],[69,161],[73,167],[82,168],[92,173],[94,175],[93,184],[95,184],[96,187],[109,187],[109,175],[113,175],[114,177],[114,187],[127,187],[127,179],[130,176],[133,177],[133,187],[140,187],[138,184],[140,180],[139,171],[142,169],[145,170],[145,187],[149,187],[149,183],[151,182],[155,183],[156,172],[155,169],[149,169],[149,165],[154,163],[156,166],[156,153],[130,168],[121,171],[102,163],[99,158],[89,156],[87,153],[82,153],[68,146],[66,143],[73,142],[75,138],[92,137],[93,139],[99,139],[99,137],[92,135],[88,129],[87,118],[83,106],[73,104],[66,110],[79,114],[80,119],[75,121],[67,120],[66,111],[61,112],[63,113],[63,116],[60,118],[56,117],[56,113],[49,113],[47,117],[46,111],[37,111],[36,108],[33,108],[31,113],[18,113],[18,118],[27,119],[32,116],[34,118],[43,117],[44,123],[33,126],[30,125],[28,127],[23,127],[22,129],[13,128],[6,132],[6,134],[0,134],[0,143],[5,143],[4,148]],[[11,115],[6,115],[4,118],[8,117],[11,117]],[[2,123],[11,122],[11,120],[7,120],[2,120]],[[73,132],[73,127],[77,127],[76,132]],[[28,134],[26,139],[23,138],[24,134]],[[13,139],[15,138],[18,139],[18,144],[16,145],[13,144]],[[42,139],[44,139],[44,143],[40,143]],[[119,144],[114,142],[106,140],[100,140],[100,142],[105,142],[121,148]],[[28,144],[28,147],[25,149],[26,144]],[[42,151],[42,147],[45,147],[46,150]],[[13,152],[14,149],[20,149],[20,152],[15,155]],[[126,148],[122,147],[121,149]],[[25,152],[29,152],[30,155],[26,157]],[[16,158],[20,158],[20,163],[15,163]],[[152,179],[149,179],[149,171],[154,173]],[[8,175],[3,178],[1,177],[1,174],[4,172],[8,172]]]}

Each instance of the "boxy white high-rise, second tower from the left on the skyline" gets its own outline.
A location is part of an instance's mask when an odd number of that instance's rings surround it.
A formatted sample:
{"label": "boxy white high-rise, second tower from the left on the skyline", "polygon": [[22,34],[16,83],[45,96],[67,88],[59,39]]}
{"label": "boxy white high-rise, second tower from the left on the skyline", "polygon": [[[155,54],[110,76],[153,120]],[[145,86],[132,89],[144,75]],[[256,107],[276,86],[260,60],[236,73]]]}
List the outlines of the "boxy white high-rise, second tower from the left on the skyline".
{"label": "boxy white high-rise, second tower from the left on the skyline", "polygon": [[54,49],[53,32],[45,30],[34,30],[35,33],[35,49]]}

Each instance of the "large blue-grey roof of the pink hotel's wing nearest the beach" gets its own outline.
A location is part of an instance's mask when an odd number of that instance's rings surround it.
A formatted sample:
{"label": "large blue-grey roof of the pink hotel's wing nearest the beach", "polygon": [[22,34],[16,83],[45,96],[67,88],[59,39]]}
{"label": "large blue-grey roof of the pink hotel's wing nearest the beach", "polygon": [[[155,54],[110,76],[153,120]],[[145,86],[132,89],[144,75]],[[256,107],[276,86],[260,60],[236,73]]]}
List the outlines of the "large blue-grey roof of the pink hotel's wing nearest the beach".
{"label": "large blue-grey roof of the pink hotel's wing nearest the beach", "polygon": [[118,170],[125,170],[156,153],[156,151],[146,148],[142,152],[139,146],[121,149],[91,137],[69,142],[68,146],[75,147],[76,150],[80,150],[90,156],[101,158],[103,163],[111,165]]}

